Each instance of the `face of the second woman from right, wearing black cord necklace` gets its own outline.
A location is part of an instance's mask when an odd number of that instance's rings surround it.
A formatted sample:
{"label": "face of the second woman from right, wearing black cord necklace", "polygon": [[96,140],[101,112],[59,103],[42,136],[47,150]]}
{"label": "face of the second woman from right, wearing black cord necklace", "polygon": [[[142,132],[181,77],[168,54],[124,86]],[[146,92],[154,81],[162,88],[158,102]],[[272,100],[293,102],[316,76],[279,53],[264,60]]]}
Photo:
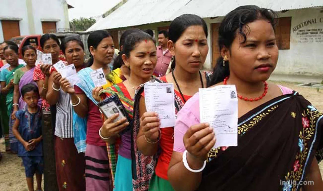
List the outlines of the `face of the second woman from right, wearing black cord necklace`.
{"label": "face of the second woman from right, wearing black cord necklace", "polygon": [[209,51],[203,27],[200,25],[187,27],[175,44],[168,41],[168,49],[175,56],[177,67],[190,73],[198,72]]}

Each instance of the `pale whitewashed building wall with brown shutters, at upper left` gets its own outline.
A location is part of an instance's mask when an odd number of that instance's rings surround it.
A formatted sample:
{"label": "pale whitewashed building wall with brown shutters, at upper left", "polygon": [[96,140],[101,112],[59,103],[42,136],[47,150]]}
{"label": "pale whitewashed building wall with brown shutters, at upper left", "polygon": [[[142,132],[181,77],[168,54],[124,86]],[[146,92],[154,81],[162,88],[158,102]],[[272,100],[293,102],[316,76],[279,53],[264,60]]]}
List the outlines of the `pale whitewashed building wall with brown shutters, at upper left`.
{"label": "pale whitewashed building wall with brown shutters, at upper left", "polygon": [[[41,21],[56,21],[57,28],[69,28],[66,0],[1,1],[0,20],[20,20],[20,35],[41,34]],[[0,41],[3,41],[2,30]]]}

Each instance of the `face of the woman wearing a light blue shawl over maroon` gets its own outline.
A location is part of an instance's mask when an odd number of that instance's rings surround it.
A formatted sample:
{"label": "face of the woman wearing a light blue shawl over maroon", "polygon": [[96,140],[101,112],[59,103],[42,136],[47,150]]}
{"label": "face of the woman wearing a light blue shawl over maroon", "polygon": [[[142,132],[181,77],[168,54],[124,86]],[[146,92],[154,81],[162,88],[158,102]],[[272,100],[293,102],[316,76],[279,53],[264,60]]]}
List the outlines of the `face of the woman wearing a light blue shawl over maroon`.
{"label": "face of the woman wearing a light blue shawl over maroon", "polygon": [[109,36],[102,39],[96,49],[91,46],[90,52],[96,62],[108,65],[112,61],[114,54],[114,44],[112,37]]}

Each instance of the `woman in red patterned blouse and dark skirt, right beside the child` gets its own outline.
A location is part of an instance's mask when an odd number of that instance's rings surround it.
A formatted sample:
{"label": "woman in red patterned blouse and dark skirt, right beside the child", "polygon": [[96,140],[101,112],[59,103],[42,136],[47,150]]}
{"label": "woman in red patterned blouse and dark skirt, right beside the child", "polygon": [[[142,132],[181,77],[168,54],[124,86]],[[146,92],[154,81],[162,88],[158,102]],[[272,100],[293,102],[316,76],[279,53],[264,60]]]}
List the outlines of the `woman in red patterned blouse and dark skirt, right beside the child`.
{"label": "woman in red patterned blouse and dark skirt, right beside the child", "polygon": [[[56,35],[44,34],[40,38],[40,47],[44,53],[52,55],[52,62],[59,61],[60,43]],[[65,62],[67,64],[67,62]],[[39,94],[42,97],[42,132],[44,148],[44,188],[58,190],[55,167],[54,132],[56,122],[56,106],[50,106],[46,100],[48,91],[48,79],[51,65],[40,64],[35,67],[33,81],[38,85]]]}

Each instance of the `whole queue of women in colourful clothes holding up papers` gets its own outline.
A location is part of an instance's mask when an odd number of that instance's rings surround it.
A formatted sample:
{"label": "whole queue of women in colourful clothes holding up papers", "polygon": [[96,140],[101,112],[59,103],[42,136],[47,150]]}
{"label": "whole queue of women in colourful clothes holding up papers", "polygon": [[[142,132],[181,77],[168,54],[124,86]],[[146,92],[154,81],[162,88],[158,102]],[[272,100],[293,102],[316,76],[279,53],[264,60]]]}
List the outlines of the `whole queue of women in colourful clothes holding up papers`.
{"label": "whole queue of women in colourful clothes holding up papers", "polygon": [[[278,60],[275,18],[257,6],[228,13],[213,72],[200,72],[209,51],[205,21],[193,14],[175,18],[167,44],[172,71],[160,78],[152,75],[156,42],[139,29],[122,34],[113,71],[108,32],[90,33],[88,63],[79,38],[60,44],[55,35],[43,35],[40,46],[53,63],[61,49],[64,63],[75,65],[80,81],[74,86],[50,65],[35,66],[34,47],[22,50],[25,66],[17,46],[2,43],[0,56],[10,65],[0,79],[6,151],[16,151],[11,129],[15,112],[26,105],[21,88],[34,83],[42,97],[45,181],[54,174],[50,184],[57,182],[52,190],[321,190],[322,113],[296,91],[266,82]],[[107,84],[95,87],[90,72],[100,68]],[[146,110],[149,81],[174,84],[175,127],[160,128],[158,114]],[[213,148],[213,128],[200,123],[198,90],[226,84],[236,86],[239,98],[238,146]],[[98,102],[114,93],[131,120],[102,115]],[[314,185],[302,185],[305,180]]]}

